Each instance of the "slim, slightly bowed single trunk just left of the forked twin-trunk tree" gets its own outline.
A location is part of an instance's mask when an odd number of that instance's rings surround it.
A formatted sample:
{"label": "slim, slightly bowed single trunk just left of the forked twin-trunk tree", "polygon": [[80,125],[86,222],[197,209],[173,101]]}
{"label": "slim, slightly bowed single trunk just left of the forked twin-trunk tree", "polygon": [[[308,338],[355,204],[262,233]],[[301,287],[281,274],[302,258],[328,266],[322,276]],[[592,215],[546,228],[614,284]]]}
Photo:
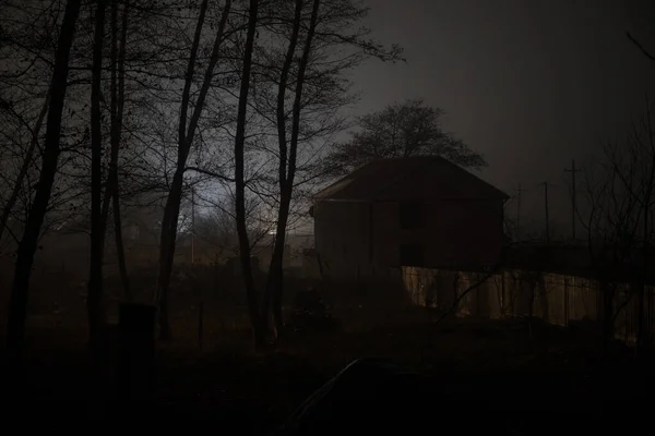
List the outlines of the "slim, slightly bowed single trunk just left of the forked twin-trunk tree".
{"label": "slim, slightly bowed single trunk just left of the forked twin-trunk tree", "polygon": [[[239,89],[239,107],[237,112],[237,132],[235,137],[235,208],[237,233],[239,237],[239,258],[241,271],[248,298],[248,308],[255,347],[264,346],[264,323],[258,310],[259,299],[252,277],[252,264],[250,261],[250,241],[248,227],[246,225],[246,175],[245,175],[245,144],[246,144],[246,116],[248,109],[248,92],[250,89],[250,70],[252,66],[252,51],[254,47],[254,34],[257,31],[258,0],[250,0],[248,10],[248,33],[246,36],[246,49],[243,55],[243,71],[241,86]],[[264,315],[265,316],[265,315]]]}

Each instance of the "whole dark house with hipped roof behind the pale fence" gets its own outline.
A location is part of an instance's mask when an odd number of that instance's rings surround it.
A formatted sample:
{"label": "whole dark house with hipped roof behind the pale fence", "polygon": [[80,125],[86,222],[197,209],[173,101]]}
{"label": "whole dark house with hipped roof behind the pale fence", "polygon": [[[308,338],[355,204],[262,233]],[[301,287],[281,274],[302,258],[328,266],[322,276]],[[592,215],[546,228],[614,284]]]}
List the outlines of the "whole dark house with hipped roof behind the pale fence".
{"label": "whole dark house with hipped roof behind the pale fence", "polygon": [[333,277],[488,267],[504,243],[508,198],[441,157],[374,160],[314,196],[317,254]]}

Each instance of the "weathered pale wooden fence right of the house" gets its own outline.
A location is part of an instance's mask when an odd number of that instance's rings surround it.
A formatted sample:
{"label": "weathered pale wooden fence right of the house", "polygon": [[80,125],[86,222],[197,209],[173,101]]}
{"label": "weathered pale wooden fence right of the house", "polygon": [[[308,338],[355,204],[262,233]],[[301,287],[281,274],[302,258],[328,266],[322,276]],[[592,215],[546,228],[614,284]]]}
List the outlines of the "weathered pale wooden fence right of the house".
{"label": "weathered pale wooden fence right of the house", "polygon": [[[461,299],[454,308],[458,316],[535,316],[553,325],[569,326],[575,320],[599,320],[603,315],[598,283],[583,277],[524,270],[489,275],[416,267],[403,267],[402,276],[414,304],[449,310]],[[617,339],[627,342],[636,339],[638,295],[629,284],[618,284],[614,301]],[[655,287],[646,287],[643,298],[645,334],[652,337]]]}

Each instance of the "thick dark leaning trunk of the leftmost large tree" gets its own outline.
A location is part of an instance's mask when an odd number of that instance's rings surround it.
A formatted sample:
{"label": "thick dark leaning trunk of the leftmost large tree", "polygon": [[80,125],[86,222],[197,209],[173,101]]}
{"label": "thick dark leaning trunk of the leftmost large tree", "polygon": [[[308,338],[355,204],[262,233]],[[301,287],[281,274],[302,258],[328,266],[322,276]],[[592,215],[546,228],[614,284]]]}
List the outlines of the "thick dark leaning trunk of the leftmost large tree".
{"label": "thick dark leaning trunk of the leftmost large tree", "polygon": [[59,160],[59,140],[61,136],[61,118],[67,90],[69,60],[75,34],[75,23],[80,14],[80,4],[81,0],[69,0],[61,22],[52,82],[50,84],[50,108],[46,123],[41,170],[34,202],[32,203],[32,208],[29,209],[27,222],[23,231],[23,238],[19,244],[14,269],[9,303],[7,348],[10,365],[16,370],[20,368],[23,361],[25,318],[27,316],[29,276],[34,263],[34,253],[48,209]]}

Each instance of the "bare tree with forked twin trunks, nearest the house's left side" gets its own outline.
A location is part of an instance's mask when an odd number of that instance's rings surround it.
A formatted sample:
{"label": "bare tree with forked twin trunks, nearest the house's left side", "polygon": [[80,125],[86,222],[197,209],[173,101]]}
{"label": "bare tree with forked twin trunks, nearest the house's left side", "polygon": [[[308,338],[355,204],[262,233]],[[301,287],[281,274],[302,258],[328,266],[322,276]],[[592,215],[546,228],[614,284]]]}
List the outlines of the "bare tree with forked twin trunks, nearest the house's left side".
{"label": "bare tree with forked twin trunks, nearest the house's left side", "polygon": [[[296,2],[277,81],[277,228],[264,307],[264,313],[272,310],[276,335],[284,324],[283,257],[293,202],[303,204],[302,185],[317,181],[325,171],[317,158],[324,153],[312,144],[322,144],[326,148],[330,143],[323,138],[331,138],[346,126],[345,119],[337,113],[356,99],[348,92],[343,74],[370,58],[392,62],[402,59],[397,46],[386,48],[368,39],[368,28],[353,32],[352,24],[362,20],[368,9],[350,1],[314,0],[308,2],[309,8],[305,3]],[[303,8],[308,12],[303,12]],[[335,57],[335,52],[346,55]],[[330,66],[325,68],[325,64]]]}

